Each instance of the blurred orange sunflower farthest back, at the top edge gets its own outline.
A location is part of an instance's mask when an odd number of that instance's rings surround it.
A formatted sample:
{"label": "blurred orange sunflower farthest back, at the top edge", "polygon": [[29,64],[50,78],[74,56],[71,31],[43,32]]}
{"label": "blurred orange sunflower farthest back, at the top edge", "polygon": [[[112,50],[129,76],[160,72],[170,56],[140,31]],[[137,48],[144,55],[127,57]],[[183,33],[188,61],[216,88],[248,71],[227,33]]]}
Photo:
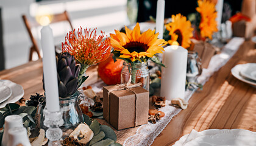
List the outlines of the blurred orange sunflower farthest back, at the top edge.
{"label": "blurred orange sunflower farthest back, at the top edge", "polygon": [[217,32],[215,4],[207,0],[198,0],[198,7],[196,11],[201,15],[199,29],[202,37],[212,39],[213,32]]}

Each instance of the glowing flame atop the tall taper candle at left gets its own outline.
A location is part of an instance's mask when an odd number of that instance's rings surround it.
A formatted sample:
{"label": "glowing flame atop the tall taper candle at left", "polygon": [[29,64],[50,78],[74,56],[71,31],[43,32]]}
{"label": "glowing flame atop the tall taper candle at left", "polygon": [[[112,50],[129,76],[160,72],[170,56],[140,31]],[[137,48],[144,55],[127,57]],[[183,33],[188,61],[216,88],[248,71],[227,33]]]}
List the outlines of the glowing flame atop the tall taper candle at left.
{"label": "glowing flame atop the tall taper candle at left", "polygon": [[49,9],[46,6],[41,6],[38,8],[35,19],[37,20],[37,23],[39,23],[41,26],[47,26],[51,23],[53,18],[53,15],[51,13],[51,9]]}

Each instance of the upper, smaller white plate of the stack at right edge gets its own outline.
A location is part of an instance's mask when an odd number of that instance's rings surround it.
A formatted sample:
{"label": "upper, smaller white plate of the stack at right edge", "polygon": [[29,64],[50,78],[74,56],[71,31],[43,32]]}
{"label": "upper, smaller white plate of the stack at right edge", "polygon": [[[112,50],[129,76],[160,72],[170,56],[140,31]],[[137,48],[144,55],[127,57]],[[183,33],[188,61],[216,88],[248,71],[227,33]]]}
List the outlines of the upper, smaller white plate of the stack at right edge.
{"label": "upper, smaller white plate of the stack at right edge", "polygon": [[256,63],[243,64],[240,74],[256,82]]}

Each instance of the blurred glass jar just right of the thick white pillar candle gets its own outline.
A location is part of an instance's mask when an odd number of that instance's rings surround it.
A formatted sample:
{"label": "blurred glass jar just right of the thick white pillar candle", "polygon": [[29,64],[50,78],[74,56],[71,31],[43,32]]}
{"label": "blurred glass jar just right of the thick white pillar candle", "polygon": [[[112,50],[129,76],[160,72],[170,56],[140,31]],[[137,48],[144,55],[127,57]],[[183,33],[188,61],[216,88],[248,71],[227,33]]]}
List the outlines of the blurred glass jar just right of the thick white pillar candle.
{"label": "blurred glass jar just right of the thick white pillar candle", "polygon": [[190,83],[196,83],[197,77],[201,75],[201,58],[198,57],[197,52],[188,51],[187,61],[187,80]]}

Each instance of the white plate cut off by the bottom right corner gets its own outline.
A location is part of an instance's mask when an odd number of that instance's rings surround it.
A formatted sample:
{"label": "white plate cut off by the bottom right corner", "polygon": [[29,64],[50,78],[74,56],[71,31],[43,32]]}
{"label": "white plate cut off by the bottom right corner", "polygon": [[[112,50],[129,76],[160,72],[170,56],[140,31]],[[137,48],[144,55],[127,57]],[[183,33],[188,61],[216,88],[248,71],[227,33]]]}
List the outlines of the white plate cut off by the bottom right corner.
{"label": "white plate cut off by the bottom right corner", "polygon": [[[196,135],[187,139],[189,134],[182,136],[174,146],[210,146],[210,145],[256,145],[256,133],[249,130],[232,129],[218,130],[210,129],[196,132]],[[183,144],[185,142],[185,144]]]}

